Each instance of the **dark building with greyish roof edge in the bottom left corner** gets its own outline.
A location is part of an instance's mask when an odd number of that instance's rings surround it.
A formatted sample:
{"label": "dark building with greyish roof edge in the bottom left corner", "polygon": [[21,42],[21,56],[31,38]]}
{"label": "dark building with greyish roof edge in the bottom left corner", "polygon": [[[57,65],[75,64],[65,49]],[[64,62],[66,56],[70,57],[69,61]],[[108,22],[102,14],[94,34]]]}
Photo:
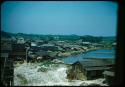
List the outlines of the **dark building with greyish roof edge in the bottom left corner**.
{"label": "dark building with greyish roof edge in the bottom left corner", "polygon": [[5,86],[13,86],[14,66],[9,53],[1,53],[1,83]]}

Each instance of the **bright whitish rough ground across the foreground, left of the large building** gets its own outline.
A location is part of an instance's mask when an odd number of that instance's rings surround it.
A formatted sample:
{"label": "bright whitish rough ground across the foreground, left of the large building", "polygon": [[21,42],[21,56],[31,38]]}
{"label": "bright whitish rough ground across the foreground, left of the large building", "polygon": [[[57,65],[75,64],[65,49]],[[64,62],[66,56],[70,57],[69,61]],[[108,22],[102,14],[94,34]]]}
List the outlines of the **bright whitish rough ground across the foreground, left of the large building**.
{"label": "bright whitish rough ground across the foreground, left of the large building", "polygon": [[[87,86],[89,84],[100,84],[104,79],[97,80],[73,80],[69,82],[66,74],[66,65],[53,66],[52,69],[46,72],[38,72],[38,69],[44,67],[40,64],[21,64],[14,69],[14,85],[15,86]],[[51,66],[52,67],[52,66]],[[46,68],[46,67],[45,67]]]}

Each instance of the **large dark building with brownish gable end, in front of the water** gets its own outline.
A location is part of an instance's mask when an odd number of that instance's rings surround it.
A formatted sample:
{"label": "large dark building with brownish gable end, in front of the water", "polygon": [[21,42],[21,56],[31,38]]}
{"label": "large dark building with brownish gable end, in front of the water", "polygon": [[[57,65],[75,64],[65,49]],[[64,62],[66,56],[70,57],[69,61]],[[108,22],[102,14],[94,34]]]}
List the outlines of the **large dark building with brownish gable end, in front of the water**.
{"label": "large dark building with brownish gable end, in front of the water", "polygon": [[69,79],[90,80],[103,77],[105,70],[113,70],[114,63],[105,59],[77,61],[67,75]]}

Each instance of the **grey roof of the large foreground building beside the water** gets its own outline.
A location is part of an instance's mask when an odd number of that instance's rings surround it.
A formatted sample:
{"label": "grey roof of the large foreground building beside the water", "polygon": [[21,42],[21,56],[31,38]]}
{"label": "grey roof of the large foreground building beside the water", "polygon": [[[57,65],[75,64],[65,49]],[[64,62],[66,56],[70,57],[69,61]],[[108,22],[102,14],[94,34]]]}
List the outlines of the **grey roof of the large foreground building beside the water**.
{"label": "grey roof of the large foreground building beside the water", "polygon": [[108,59],[93,59],[77,61],[73,65],[80,64],[82,68],[89,70],[107,70],[111,69],[114,62]]}

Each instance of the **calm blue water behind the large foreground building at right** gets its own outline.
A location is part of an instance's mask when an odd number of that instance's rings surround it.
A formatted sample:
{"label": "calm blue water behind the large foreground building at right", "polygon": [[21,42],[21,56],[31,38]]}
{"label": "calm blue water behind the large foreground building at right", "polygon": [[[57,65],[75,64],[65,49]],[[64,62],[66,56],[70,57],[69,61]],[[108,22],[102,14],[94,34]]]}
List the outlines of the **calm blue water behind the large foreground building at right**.
{"label": "calm blue water behind the large foreground building at right", "polygon": [[86,60],[86,58],[115,58],[115,50],[99,49],[75,56],[61,58],[61,60],[66,64],[72,64],[76,61]]}

